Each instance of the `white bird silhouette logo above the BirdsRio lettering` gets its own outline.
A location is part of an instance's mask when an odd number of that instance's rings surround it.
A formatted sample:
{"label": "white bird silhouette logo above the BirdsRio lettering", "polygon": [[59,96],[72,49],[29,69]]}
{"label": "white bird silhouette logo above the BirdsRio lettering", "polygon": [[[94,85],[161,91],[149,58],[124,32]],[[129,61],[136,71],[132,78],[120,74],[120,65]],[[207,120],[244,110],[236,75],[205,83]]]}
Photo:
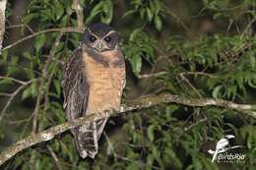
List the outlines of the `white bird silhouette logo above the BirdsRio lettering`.
{"label": "white bird silhouette logo above the BirdsRio lettering", "polygon": [[223,153],[232,148],[242,147],[241,145],[230,146],[229,140],[234,139],[234,138],[235,137],[233,135],[226,135],[226,136],[224,136],[223,139],[221,139],[219,142],[217,142],[215,150],[212,150],[212,149],[208,150],[208,152],[210,154],[213,154],[213,158],[212,158],[213,163],[217,159],[217,156],[219,153]]}

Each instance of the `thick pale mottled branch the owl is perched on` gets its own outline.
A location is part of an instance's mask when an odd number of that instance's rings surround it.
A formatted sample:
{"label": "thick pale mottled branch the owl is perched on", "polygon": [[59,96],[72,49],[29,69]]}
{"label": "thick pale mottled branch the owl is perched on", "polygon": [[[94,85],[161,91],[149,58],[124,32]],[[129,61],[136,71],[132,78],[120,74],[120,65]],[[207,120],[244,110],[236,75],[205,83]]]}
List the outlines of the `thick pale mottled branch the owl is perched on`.
{"label": "thick pale mottled branch the owl is perched on", "polygon": [[214,99],[214,98],[183,98],[178,95],[173,94],[160,94],[160,95],[152,95],[148,97],[143,97],[138,100],[133,101],[130,104],[122,105],[119,112],[110,112],[105,111],[102,113],[90,114],[85,117],[74,120],[73,122],[66,122],[61,125],[57,125],[51,127],[47,130],[44,130],[38,134],[32,134],[29,137],[20,140],[6,148],[0,154],[0,165],[5,163],[7,160],[15,156],[18,152],[31,147],[34,144],[39,142],[47,142],[52,140],[55,136],[62,134],[72,128],[83,125],[87,122],[97,121],[110,116],[118,116],[123,113],[149,108],[152,106],[160,105],[163,103],[176,103],[187,106],[218,106],[223,107],[225,109],[231,109],[238,111],[239,113],[243,113],[245,115],[256,118],[256,105],[250,104],[237,104],[231,101],[223,100],[223,99]]}

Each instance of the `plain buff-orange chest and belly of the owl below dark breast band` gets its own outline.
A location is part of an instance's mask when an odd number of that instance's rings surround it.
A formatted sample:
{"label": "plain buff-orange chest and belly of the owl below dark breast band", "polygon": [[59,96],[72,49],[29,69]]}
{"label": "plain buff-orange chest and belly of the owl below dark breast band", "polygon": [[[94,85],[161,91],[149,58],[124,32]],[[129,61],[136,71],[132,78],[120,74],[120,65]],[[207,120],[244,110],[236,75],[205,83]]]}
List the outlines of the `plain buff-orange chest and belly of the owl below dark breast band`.
{"label": "plain buff-orange chest and belly of the owl below dark breast band", "polygon": [[[107,57],[107,56],[106,56]],[[109,57],[111,58],[111,57]],[[85,73],[90,85],[87,112],[118,110],[125,84],[125,67],[114,67],[111,59],[105,67],[84,53]]]}

